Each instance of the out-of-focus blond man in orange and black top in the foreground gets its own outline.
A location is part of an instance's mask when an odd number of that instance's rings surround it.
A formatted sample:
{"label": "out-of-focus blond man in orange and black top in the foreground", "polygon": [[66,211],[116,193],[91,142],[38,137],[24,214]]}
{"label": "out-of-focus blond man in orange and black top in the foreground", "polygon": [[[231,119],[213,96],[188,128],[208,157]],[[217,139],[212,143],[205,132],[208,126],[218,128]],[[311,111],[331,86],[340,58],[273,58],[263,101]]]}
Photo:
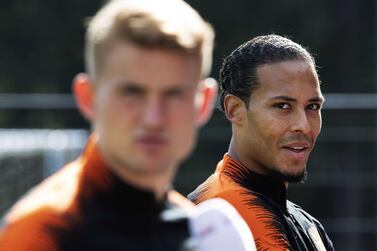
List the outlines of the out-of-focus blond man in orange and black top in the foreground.
{"label": "out-of-focus blond man in orange and black top in the foreground", "polygon": [[0,250],[197,249],[193,205],[171,183],[212,113],[213,37],[181,0],[108,2],[89,23],[87,73],[73,83],[93,134],[7,214]]}

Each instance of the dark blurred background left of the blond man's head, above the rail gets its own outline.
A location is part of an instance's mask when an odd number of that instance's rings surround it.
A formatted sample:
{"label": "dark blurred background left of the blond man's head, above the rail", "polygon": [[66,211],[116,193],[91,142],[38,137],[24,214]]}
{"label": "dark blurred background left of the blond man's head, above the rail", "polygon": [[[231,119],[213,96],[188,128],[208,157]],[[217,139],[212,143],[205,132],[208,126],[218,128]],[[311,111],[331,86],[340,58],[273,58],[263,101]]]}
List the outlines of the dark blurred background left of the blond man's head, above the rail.
{"label": "dark blurred background left of the blond man's head, above the rail", "polygon": [[0,92],[70,92],[83,70],[85,17],[99,1],[2,1]]}

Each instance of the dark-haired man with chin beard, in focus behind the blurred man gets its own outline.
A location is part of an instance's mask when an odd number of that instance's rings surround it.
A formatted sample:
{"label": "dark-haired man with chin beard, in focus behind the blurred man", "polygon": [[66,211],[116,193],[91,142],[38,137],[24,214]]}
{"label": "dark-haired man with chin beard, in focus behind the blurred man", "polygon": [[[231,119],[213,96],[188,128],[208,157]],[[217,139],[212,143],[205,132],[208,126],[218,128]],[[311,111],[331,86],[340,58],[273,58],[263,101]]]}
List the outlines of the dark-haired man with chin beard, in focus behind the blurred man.
{"label": "dark-haired man with chin beard, in focus behind the blurred man", "polygon": [[321,129],[324,98],[313,57],[287,38],[259,36],[225,59],[220,82],[232,139],[189,198],[230,202],[258,250],[333,250],[322,225],[286,199],[288,184],[305,178]]}

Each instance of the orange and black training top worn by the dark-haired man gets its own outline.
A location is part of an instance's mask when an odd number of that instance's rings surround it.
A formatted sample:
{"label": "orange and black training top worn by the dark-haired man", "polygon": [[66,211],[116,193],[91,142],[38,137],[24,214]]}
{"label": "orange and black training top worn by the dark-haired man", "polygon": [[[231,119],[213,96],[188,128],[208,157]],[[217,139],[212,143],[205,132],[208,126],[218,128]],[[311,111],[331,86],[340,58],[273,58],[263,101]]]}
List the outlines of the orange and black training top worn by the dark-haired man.
{"label": "orange and black training top worn by the dark-haired man", "polygon": [[334,250],[323,226],[286,199],[283,181],[254,173],[228,154],[189,198],[230,202],[253,233],[258,250]]}

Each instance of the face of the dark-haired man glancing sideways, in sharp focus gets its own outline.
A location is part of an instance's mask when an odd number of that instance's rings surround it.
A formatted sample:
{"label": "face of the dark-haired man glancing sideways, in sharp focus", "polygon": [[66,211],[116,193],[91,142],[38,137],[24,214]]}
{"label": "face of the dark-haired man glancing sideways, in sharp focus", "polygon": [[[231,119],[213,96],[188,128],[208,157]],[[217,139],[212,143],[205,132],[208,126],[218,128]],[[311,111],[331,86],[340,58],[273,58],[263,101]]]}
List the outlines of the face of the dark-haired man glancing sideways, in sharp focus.
{"label": "face of the dark-haired man glancing sideways, in sharp focus", "polygon": [[248,166],[299,181],[321,130],[317,74],[306,61],[283,61],[257,67],[257,78],[239,135]]}

